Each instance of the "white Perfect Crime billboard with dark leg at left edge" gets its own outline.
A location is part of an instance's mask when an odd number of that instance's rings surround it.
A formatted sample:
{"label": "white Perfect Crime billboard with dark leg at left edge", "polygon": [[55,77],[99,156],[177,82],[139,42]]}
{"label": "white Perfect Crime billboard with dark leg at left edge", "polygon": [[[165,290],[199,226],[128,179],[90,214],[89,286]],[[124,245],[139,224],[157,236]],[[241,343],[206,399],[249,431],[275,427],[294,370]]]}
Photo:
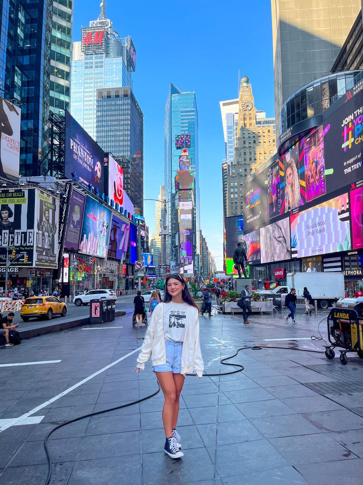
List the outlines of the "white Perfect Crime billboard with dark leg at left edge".
{"label": "white Perfect Crime billboard with dark leg at left edge", "polygon": [[0,96],[0,175],[19,176],[21,109]]}

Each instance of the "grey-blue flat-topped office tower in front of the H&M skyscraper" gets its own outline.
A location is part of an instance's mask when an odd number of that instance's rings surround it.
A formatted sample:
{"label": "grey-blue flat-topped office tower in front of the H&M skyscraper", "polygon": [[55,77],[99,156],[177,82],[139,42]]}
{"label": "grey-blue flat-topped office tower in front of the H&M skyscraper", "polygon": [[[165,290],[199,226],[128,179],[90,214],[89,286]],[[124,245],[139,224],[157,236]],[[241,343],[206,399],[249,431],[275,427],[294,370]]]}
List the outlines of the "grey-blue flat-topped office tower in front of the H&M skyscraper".
{"label": "grey-blue flat-topped office tower in front of the H&M skyscraper", "polygon": [[143,215],[144,115],[131,88],[97,89],[96,139],[124,171],[124,190]]}

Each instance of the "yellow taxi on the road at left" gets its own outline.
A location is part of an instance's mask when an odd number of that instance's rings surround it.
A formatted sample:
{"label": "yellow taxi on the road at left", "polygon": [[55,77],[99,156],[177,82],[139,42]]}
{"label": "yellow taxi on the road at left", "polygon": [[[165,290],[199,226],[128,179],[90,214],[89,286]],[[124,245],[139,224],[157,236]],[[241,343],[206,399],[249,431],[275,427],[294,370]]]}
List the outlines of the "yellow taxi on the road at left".
{"label": "yellow taxi on the road at left", "polygon": [[66,316],[67,305],[53,296],[27,298],[20,309],[20,317],[24,322],[31,317],[51,320],[52,316],[56,314]]}

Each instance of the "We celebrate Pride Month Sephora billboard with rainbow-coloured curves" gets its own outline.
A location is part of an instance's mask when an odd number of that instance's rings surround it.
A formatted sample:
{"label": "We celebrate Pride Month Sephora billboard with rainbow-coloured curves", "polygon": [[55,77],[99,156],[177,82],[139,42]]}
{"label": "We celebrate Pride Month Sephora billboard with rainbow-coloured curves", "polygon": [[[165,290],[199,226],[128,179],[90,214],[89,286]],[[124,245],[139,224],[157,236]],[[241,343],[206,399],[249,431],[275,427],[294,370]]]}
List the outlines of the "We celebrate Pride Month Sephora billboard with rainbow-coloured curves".
{"label": "We celebrate Pride Month Sephora billboard with rainbow-coloured curves", "polygon": [[291,250],[296,258],[351,249],[348,194],[291,214]]}

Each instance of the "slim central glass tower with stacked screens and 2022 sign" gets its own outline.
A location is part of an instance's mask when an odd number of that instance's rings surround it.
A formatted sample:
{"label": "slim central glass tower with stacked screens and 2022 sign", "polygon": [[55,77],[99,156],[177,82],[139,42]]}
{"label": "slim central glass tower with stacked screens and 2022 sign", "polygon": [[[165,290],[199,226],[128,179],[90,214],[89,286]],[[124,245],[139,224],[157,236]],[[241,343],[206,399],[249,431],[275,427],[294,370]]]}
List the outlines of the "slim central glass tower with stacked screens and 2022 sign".
{"label": "slim central glass tower with stacked screens and 2022 sign", "polygon": [[[181,272],[200,272],[198,110],[195,92],[171,84],[164,121],[167,258]],[[172,263],[173,265],[173,263]]]}

